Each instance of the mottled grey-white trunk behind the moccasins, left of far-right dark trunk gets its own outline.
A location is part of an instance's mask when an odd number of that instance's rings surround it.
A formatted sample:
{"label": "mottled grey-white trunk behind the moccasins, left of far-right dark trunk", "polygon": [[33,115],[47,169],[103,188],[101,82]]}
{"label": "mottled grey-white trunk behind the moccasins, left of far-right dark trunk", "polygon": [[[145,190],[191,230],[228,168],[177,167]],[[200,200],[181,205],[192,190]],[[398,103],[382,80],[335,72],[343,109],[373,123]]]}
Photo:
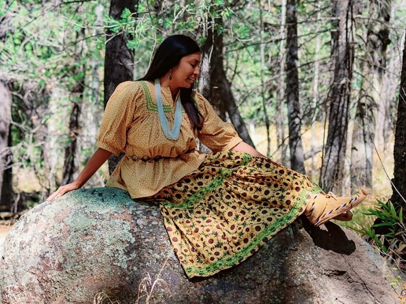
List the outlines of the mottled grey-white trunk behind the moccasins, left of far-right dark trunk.
{"label": "mottled grey-white trunk behind the moccasins, left of far-right dark trunk", "polygon": [[[355,115],[351,147],[351,187],[353,191],[359,186],[371,188],[374,156],[375,127],[378,124],[380,142],[384,119],[376,120],[378,107],[384,113],[382,82],[386,69],[386,48],[389,40],[389,18],[391,1],[383,4],[373,0],[369,4],[369,21],[367,24],[366,53],[363,63],[363,78],[360,97]],[[377,143],[377,142],[376,142]]]}

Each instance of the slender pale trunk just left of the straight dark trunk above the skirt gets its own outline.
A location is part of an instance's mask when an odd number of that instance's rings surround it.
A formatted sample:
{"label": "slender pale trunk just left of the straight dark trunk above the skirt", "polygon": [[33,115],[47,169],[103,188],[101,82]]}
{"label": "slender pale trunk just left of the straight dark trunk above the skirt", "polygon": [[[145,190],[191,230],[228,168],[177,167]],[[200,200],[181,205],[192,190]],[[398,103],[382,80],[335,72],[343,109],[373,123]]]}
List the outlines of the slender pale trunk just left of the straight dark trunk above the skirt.
{"label": "slender pale trunk just left of the straight dark trunk above the skirt", "polygon": [[285,143],[285,56],[284,56],[284,40],[285,40],[285,25],[286,25],[286,0],[281,3],[281,29],[280,29],[280,48],[279,48],[279,80],[278,80],[278,99],[276,107],[276,137],[278,148],[281,148],[281,162],[289,165],[288,161],[288,146]]}

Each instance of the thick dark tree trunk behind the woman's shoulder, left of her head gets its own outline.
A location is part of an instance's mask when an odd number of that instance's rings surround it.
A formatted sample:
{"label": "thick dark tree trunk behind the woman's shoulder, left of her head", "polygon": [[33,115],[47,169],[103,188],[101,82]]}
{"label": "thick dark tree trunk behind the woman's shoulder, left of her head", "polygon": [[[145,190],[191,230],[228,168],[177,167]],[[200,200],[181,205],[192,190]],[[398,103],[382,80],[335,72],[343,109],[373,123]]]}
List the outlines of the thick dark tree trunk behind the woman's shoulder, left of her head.
{"label": "thick dark tree trunk behind the woman's shoulder, left of her head", "polygon": [[[109,15],[114,19],[120,19],[121,13],[125,8],[129,9],[131,13],[134,13],[136,12],[136,7],[138,7],[138,0],[111,0]],[[112,33],[107,31],[107,39],[110,39],[111,35]],[[131,37],[127,33],[120,33],[106,44],[104,78],[105,108],[115,88],[124,81],[133,80],[134,53],[127,47],[127,41],[130,39]],[[109,158],[110,174],[114,171],[122,157],[123,153],[118,157],[112,155]]]}

